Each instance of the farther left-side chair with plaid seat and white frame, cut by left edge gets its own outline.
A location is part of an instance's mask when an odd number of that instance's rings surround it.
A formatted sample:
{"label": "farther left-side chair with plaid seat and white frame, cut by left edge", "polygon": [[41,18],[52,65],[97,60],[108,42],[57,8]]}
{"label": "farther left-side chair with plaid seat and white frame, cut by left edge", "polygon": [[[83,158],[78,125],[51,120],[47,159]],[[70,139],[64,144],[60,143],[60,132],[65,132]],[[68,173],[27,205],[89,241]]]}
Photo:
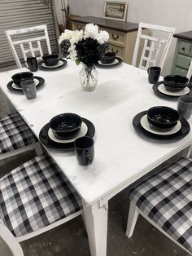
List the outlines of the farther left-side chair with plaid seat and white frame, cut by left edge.
{"label": "farther left-side chair with plaid seat and white frame, cut by left edge", "polygon": [[19,113],[0,117],[0,160],[29,149],[41,153],[41,146]]}

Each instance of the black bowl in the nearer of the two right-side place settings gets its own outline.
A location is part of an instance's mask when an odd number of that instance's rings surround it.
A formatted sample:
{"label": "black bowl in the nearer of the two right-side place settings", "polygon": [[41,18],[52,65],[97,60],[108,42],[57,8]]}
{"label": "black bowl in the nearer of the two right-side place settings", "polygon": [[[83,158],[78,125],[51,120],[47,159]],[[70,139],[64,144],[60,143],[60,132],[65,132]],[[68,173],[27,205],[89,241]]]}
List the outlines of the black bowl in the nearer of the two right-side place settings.
{"label": "black bowl in the nearer of the two right-side place settings", "polygon": [[149,108],[146,115],[151,128],[155,130],[172,130],[180,117],[177,110],[164,106]]}

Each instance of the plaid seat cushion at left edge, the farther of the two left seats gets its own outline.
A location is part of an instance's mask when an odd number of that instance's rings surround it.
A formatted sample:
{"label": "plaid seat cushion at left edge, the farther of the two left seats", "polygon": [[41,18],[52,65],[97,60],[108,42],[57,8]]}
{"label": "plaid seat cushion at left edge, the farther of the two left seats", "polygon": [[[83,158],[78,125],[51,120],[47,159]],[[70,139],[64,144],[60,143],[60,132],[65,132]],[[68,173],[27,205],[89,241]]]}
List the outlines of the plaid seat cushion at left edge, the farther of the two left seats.
{"label": "plaid seat cushion at left edge, the farther of the two left seats", "polygon": [[32,143],[36,143],[36,139],[19,113],[0,117],[0,153],[11,152]]}

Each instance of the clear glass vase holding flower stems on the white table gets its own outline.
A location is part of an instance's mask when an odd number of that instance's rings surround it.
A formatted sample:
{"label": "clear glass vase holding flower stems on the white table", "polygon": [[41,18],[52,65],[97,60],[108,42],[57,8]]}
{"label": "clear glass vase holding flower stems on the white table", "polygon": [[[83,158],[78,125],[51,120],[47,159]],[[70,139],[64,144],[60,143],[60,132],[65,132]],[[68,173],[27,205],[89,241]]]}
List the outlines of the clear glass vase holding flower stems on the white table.
{"label": "clear glass vase holding flower stems on the white table", "polygon": [[83,90],[93,91],[97,87],[98,84],[98,71],[97,69],[92,67],[87,67],[83,64],[83,67],[80,71],[80,81]]}

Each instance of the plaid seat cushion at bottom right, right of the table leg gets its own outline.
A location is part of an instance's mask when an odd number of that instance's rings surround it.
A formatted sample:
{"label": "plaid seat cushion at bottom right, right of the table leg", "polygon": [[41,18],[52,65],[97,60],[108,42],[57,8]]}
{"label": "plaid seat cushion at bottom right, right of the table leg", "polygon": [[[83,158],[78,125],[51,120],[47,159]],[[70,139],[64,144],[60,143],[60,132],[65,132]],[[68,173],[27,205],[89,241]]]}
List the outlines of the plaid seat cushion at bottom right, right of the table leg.
{"label": "plaid seat cushion at bottom right, right of the table leg", "polygon": [[192,161],[183,157],[131,189],[130,200],[192,253]]}

